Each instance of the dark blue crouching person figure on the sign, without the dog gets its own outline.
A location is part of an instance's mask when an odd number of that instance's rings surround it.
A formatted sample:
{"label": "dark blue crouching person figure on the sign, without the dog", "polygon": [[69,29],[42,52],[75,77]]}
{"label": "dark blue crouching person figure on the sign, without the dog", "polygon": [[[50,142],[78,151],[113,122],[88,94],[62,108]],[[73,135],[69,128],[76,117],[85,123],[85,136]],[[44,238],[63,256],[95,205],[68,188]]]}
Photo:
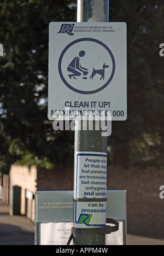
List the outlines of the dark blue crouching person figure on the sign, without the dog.
{"label": "dark blue crouching person figure on the sign, without the dog", "polygon": [[83,79],[87,79],[86,75],[88,74],[88,69],[85,67],[82,67],[80,63],[81,61],[80,57],[84,57],[84,56],[85,56],[85,51],[80,51],[79,56],[74,57],[74,59],[69,64],[67,70],[72,73],[68,75],[70,79],[72,78],[77,79],[76,77],[80,77],[80,75],[85,75]]}

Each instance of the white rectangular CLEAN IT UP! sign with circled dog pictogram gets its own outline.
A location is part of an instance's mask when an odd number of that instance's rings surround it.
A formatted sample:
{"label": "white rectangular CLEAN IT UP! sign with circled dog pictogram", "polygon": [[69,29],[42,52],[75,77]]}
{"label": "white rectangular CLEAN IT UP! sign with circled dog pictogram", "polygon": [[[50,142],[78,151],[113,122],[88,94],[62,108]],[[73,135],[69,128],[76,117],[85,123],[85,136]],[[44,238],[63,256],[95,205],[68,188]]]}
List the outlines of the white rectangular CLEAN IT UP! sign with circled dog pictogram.
{"label": "white rectangular CLEAN IT UP! sign with circled dog pictogram", "polygon": [[126,120],[126,80],[124,22],[50,24],[50,120]]}

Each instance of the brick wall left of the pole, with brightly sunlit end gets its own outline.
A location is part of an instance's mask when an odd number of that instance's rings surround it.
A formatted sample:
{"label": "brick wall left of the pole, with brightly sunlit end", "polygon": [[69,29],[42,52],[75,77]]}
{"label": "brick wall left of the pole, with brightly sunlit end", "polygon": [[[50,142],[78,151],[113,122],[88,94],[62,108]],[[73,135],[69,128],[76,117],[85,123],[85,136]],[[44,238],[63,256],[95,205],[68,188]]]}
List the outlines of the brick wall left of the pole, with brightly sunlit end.
{"label": "brick wall left of the pole, with brightly sunlit end", "polygon": [[[73,190],[73,170],[67,168],[61,170],[54,168],[45,170],[32,166],[12,165],[9,173],[10,193],[14,185],[21,187],[21,214],[34,222],[34,193],[35,191],[48,190]],[[29,198],[29,193],[33,194],[33,199]],[[11,195],[10,195],[11,200]]]}

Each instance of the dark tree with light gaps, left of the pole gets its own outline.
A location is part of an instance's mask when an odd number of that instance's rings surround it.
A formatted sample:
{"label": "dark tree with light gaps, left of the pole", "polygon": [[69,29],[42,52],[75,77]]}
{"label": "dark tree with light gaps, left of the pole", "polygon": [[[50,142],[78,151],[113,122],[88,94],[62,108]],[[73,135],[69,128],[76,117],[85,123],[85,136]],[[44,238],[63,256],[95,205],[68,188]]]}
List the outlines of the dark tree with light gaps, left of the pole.
{"label": "dark tree with light gaps, left of the pole", "polygon": [[73,134],[52,130],[47,97],[49,23],[75,20],[75,16],[75,5],[68,0],[0,3],[3,163],[8,162],[8,155],[13,162],[46,167],[73,160]]}

